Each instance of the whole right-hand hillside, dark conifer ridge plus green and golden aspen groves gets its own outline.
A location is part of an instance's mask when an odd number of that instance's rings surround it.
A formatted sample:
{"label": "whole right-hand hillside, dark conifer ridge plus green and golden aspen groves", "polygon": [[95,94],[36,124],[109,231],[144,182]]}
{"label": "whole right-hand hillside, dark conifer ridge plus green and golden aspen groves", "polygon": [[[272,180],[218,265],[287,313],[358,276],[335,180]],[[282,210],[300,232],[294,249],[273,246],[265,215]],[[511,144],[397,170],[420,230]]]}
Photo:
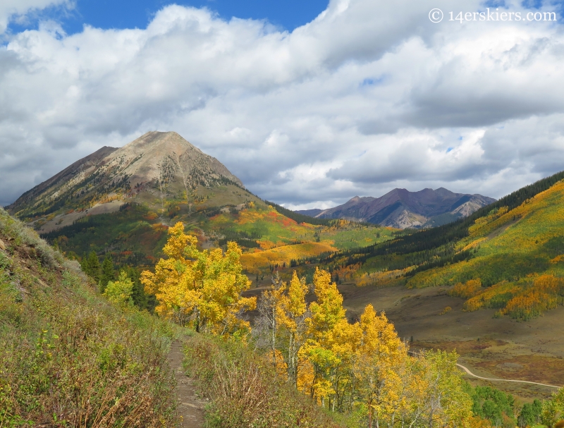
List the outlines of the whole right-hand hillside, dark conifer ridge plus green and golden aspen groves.
{"label": "whole right-hand hillside, dark conifer ridge plus green and golden aspen groves", "polygon": [[357,285],[455,286],[450,293],[468,300],[465,310],[529,319],[563,302],[563,178],[544,178],[455,223],[317,262]]}

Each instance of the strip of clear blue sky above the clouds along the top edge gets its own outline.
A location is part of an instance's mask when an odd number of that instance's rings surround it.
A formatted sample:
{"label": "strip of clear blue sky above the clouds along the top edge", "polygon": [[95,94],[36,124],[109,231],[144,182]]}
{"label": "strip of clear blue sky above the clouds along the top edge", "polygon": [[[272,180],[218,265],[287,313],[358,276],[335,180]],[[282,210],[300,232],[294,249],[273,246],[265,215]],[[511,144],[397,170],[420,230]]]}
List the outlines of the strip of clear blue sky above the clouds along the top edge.
{"label": "strip of clear blue sky above the clouds along the top edge", "polygon": [[76,0],[73,9],[51,6],[27,18],[27,22],[11,23],[12,33],[36,29],[39,20],[53,19],[61,23],[68,35],[82,31],[87,24],[102,29],[145,28],[154,14],[168,4],[206,7],[229,20],[269,20],[276,27],[292,31],[313,20],[325,10],[328,0]]}

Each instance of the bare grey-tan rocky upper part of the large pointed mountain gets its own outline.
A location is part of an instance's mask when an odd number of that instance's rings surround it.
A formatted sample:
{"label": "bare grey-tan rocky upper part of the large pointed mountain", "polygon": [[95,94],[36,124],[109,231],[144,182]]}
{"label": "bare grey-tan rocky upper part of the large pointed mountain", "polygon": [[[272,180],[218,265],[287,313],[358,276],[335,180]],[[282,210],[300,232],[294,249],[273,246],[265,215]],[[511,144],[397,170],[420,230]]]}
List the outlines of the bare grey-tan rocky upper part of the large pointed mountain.
{"label": "bare grey-tan rocky upper part of the large pointed mountain", "polygon": [[[152,131],[127,145],[102,147],[25,192],[7,207],[20,218],[44,218],[40,231],[72,224],[81,216],[117,211],[125,202],[160,205],[178,198],[190,207],[198,189],[243,183],[217,159],[175,132]],[[53,215],[55,214],[55,215]]]}

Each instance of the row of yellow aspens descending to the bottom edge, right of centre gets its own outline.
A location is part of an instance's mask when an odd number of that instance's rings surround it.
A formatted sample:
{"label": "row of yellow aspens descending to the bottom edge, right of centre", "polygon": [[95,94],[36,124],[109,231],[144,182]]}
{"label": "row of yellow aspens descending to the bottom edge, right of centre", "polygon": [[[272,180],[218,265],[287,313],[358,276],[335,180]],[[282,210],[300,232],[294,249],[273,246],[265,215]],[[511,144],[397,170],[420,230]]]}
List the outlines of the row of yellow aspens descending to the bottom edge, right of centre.
{"label": "row of yellow aspens descending to the bottom edge, right of centre", "polygon": [[472,400],[462,390],[455,353],[410,356],[386,314],[372,305],[360,322],[347,321],[329,272],[316,269],[313,285],[316,300],[308,307],[303,279],[294,272],[286,287],[275,277],[259,305],[264,314],[276,313],[270,358],[298,390],[333,411],[348,403],[369,427],[480,427],[470,425]]}

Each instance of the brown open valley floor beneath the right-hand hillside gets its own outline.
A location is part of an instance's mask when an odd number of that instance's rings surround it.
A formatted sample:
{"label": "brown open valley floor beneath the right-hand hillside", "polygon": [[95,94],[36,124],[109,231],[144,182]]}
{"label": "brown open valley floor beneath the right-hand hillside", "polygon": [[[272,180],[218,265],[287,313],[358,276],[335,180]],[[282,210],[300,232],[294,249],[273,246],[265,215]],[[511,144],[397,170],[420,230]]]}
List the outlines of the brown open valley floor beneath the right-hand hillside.
{"label": "brown open valley floor beneath the right-hand hillside", "polygon": [[[400,337],[412,338],[411,347],[456,351],[460,364],[481,377],[519,379],[564,385],[564,307],[528,322],[494,318],[496,310],[462,312],[464,300],[450,297],[446,287],[408,289],[403,286],[369,288],[343,285],[348,316],[358,317],[364,305],[385,311]],[[441,314],[446,307],[451,310]],[[467,376],[470,383],[491,384],[523,401],[548,398],[547,386],[489,382]]]}

